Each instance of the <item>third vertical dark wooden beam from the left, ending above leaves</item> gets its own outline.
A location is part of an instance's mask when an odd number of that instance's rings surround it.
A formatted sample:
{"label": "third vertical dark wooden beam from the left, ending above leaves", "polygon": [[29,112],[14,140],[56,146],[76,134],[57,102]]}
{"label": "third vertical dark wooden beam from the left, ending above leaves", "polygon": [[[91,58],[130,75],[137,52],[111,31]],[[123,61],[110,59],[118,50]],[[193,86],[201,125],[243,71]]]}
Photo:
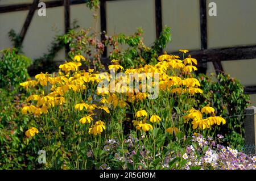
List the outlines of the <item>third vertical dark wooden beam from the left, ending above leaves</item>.
{"label": "third vertical dark wooden beam from the left, ending above leaves", "polygon": [[156,30],[156,38],[158,39],[160,33],[163,30],[162,26],[162,1],[155,0],[155,30]]}

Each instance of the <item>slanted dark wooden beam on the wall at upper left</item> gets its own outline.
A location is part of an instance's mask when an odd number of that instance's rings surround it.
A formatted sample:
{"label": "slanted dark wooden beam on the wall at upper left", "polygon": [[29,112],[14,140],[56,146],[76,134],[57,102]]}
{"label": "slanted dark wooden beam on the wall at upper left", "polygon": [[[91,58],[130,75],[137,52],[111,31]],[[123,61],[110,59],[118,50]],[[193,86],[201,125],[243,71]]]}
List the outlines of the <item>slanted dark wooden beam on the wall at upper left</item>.
{"label": "slanted dark wooden beam on the wall at upper left", "polygon": [[30,6],[30,10],[28,11],[27,18],[23,24],[22,30],[19,33],[20,36],[20,44],[22,44],[24,37],[26,36],[28,27],[30,26],[31,20],[34,16],[36,7],[38,7],[39,0],[34,0],[33,3]]}

